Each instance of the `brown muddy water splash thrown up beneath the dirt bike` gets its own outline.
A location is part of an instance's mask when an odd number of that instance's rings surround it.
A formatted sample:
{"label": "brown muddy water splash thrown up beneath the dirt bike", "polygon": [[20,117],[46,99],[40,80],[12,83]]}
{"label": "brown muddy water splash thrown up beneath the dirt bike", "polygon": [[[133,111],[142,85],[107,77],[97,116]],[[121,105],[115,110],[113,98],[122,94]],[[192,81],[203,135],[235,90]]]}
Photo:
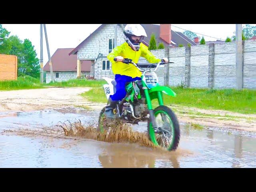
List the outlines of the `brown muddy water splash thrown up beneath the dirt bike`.
{"label": "brown muddy water splash thrown up beneath the dirt bike", "polygon": [[122,120],[104,122],[104,127],[108,127],[104,132],[101,132],[97,126],[92,124],[84,126],[80,120],[74,123],[69,122],[69,124],[62,123],[57,126],[60,126],[64,130],[65,136],[81,137],[111,143],[138,143],[145,147],[160,148],[149,140],[147,132],[134,131],[131,126],[124,123]]}

